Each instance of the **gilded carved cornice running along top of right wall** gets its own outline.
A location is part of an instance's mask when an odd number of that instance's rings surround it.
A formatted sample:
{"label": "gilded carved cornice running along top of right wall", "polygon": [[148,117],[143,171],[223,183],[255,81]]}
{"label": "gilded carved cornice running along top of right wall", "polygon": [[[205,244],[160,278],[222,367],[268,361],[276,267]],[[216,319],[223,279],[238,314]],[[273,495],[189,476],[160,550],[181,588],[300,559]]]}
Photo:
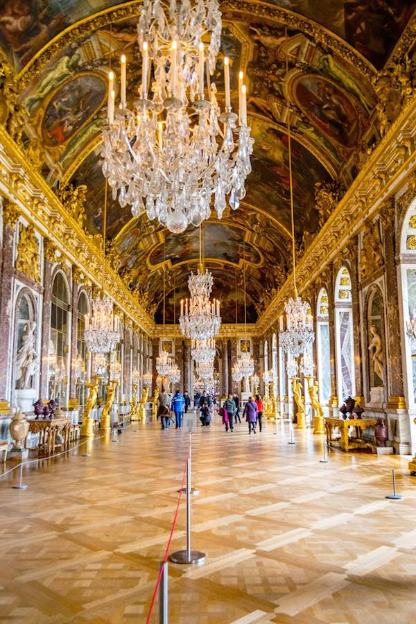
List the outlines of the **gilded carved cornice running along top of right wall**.
{"label": "gilded carved cornice running along top of right wall", "polygon": [[[413,97],[374,149],[298,263],[297,287],[300,292],[322,273],[349,239],[360,231],[363,220],[374,218],[382,209],[383,202],[405,184],[406,176],[416,165],[415,147],[416,97]],[[292,295],[293,277],[290,275],[259,318],[259,335],[268,331],[282,313],[284,302]]]}

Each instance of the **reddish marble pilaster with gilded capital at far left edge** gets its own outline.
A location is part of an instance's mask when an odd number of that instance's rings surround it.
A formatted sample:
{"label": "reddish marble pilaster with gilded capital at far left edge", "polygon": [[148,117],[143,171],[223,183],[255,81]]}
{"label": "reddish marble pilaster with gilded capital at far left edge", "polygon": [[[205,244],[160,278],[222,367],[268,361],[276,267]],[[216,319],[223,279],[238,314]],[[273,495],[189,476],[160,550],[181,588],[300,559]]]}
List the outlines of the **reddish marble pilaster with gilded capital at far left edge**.
{"label": "reddish marble pilaster with gilded capital at far left edge", "polygon": [[9,411],[10,380],[12,379],[13,354],[10,345],[12,321],[12,284],[14,275],[13,245],[19,208],[9,200],[3,200],[3,248],[1,250],[0,275],[0,413]]}

